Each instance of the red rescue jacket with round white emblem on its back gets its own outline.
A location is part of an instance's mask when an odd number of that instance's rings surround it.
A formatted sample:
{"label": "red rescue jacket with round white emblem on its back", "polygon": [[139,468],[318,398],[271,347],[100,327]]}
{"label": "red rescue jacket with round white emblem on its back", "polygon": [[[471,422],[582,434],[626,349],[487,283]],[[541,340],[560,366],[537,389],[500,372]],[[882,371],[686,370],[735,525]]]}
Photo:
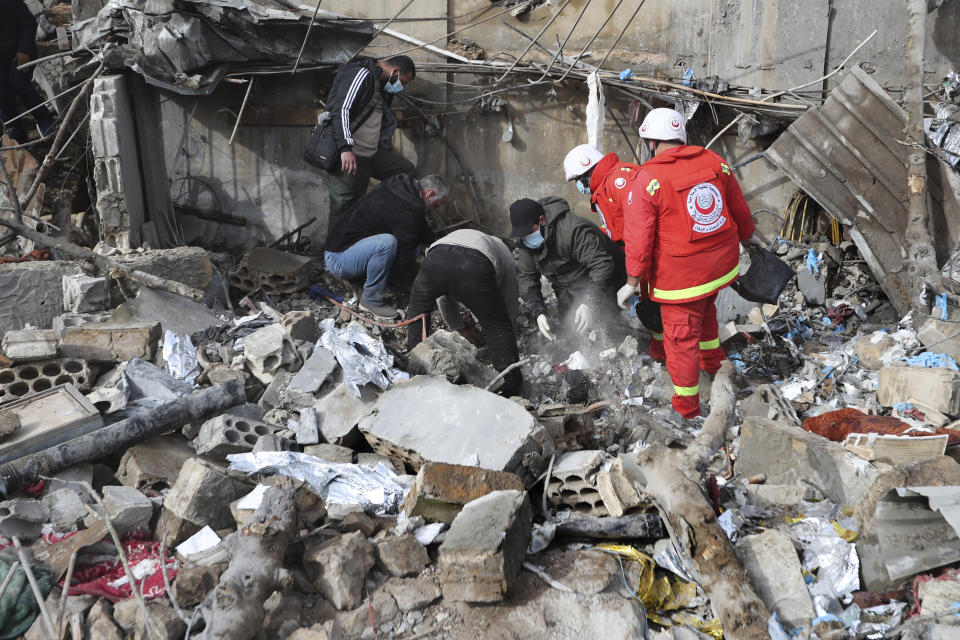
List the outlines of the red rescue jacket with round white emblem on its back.
{"label": "red rescue jacket with round white emblem on its back", "polygon": [[627,273],[656,302],[705,298],[739,274],[740,242],[754,232],[740,185],[703,147],[664,151],[624,186]]}

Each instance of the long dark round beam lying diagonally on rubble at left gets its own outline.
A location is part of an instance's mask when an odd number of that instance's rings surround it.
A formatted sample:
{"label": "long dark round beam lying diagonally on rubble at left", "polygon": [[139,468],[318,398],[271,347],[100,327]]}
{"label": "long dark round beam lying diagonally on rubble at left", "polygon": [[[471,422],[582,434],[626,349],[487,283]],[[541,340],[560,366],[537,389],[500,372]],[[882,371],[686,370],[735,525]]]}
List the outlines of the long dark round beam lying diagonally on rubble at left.
{"label": "long dark round beam lying diagonally on rubble at left", "polygon": [[188,422],[202,420],[241,405],[245,401],[243,381],[230,380],[35,453],[18,462],[3,465],[0,467],[0,496],[9,496],[43,476],[53,475],[77,464],[99,460],[144,440],[163,435]]}

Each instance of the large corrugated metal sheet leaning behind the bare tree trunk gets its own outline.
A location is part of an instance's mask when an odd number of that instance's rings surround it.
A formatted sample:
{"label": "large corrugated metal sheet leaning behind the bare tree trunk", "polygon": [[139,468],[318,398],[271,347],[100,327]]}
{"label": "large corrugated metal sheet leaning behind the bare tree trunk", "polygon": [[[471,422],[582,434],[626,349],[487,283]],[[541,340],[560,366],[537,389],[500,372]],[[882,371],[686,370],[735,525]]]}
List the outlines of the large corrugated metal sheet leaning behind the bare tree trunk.
{"label": "large corrugated metal sheet leaning behind the bare tree trunk", "polygon": [[[765,152],[850,235],[891,302],[909,309],[904,258],[907,228],[906,113],[859,68],[823,106],[798,118]],[[957,245],[960,203],[953,170],[931,156],[931,232],[942,265]],[[946,185],[946,188],[941,187]]]}

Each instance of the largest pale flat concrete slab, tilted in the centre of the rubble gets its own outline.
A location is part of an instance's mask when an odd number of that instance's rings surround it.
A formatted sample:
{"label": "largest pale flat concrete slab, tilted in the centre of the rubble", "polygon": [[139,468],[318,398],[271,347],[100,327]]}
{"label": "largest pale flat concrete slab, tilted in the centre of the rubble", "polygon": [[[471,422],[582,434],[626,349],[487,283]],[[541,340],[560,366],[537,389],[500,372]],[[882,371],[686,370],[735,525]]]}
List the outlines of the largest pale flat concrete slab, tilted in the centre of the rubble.
{"label": "largest pale flat concrete slab, tilted in the centre of the rubble", "polygon": [[[414,469],[428,460],[462,464],[475,459],[484,469],[515,471],[524,456],[543,451],[542,429],[520,405],[436,376],[396,384],[358,426],[376,453]],[[438,438],[438,433],[455,437]]]}

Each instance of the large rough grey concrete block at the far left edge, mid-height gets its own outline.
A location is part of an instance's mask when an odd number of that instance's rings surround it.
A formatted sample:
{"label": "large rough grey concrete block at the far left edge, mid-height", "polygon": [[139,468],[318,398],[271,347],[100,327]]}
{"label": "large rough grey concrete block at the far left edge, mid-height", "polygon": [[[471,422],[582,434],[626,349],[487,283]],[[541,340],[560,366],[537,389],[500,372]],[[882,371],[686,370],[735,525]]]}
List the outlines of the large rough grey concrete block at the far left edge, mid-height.
{"label": "large rough grey concrete block at the far left edge, mid-height", "polygon": [[49,329],[63,313],[65,275],[79,274],[79,263],[48,260],[5,264],[0,269],[0,334],[27,325]]}

